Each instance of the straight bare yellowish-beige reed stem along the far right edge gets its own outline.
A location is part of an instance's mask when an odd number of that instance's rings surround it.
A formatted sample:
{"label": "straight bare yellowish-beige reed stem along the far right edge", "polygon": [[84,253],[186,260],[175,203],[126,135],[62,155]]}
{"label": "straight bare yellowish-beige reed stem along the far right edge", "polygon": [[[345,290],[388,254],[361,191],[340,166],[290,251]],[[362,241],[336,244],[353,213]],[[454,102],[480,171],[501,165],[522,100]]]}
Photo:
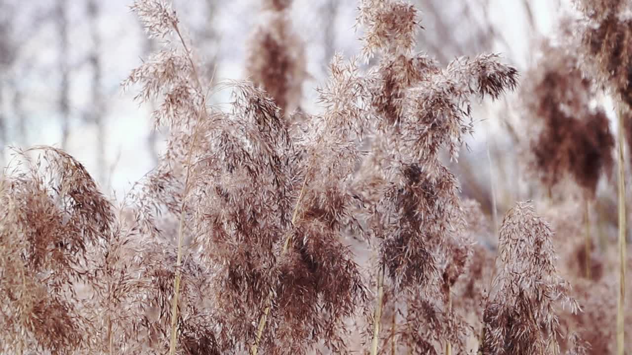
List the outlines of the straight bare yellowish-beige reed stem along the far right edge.
{"label": "straight bare yellowish-beige reed stem along the far right edge", "polygon": [[626,289],[626,184],[625,160],[623,159],[623,103],[618,103],[617,117],[619,122],[619,292],[617,292],[617,355],[624,355],[624,303]]}

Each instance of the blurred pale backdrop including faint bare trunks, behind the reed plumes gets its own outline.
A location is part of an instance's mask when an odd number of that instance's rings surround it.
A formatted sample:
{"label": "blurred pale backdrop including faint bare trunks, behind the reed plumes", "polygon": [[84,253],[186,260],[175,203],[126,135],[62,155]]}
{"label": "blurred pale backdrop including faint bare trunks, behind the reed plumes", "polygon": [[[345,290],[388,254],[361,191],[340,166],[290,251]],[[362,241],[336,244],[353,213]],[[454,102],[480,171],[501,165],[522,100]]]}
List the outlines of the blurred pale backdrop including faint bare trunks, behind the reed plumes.
{"label": "blurred pale backdrop including faint bare trunks, behind the reed plumes", "polygon": [[[571,11],[571,0],[415,0],[423,30],[418,50],[444,64],[455,56],[499,52],[526,73],[543,37]],[[120,87],[143,57],[161,46],[148,40],[130,0],[0,0],[0,163],[11,148],[61,147],[83,162],[103,191],[120,196],[157,162],[162,133],[152,131],[152,105]],[[296,32],[305,41],[308,80],[301,107],[318,112],[315,87],[334,52],[360,52],[355,0],[296,0]],[[245,79],[248,38],[261,20],[257,0],[176,0],[195,55],[214,81]],[[210,80],[210,78],[207,78]],[[463,193],[489,212],[520,194],[518,94],[476,107],[477,136],[454,169]],[[229,100],[229,92],[212,97]],[[495,191],[491,191],[495,190]],[[526,191],[526,192],[525,192]]]}

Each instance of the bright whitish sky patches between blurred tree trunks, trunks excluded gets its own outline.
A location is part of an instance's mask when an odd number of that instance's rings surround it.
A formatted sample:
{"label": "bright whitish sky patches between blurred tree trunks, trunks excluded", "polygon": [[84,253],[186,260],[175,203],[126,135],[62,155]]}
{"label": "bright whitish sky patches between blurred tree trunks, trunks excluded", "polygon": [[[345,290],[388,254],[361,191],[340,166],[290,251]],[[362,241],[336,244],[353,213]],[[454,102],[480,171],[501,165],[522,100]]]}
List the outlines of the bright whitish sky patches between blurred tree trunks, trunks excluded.
{"label": "bright whitish sky patches between blurred tree trunks, trunks excluded", "polygon": [[[303,106],[311,112],[318,110],[318,107],[310,104],[314,102],[315,97],[313,88],[324,80],[323,28],[320,9],[325,1],[328,0],[296,0],[292,8],[296,32],[307,43],[308,71],[313,79],[305,83]],[[480,23],[492,25],[495,32],[501,33],[504,37],[504,41],[494,40],[490,49],[501,52],[506,57],[507,63],[517,66],[521,71],[532,64],[533,54],[537,51],[533,48],[534,39],[538,35],[550,35],[554,32],[561,13],[571,9],[569,0],[528,0],[535,18],[536,28],[534,29],[528,23],[523,0],[417,0],[416,3],[422,10],[422,25],[425,27],[425,34],[430,36],[437,28],[434,28],[432,18],[426,18],[425,4],[428,4],[428,1],[434,1],[439,6],[470,4],[471,17]],[[11,4],[18,1],[0,0],[0,6],[3,3]],[[143,54],[143,33],[137,18],[128,9],[130,1],[111,0],[98,3],[100,4],[99,29],[102,37],[100,51],[103,65],[102,90],[106,94],[106,112],[104,113],[106,114],[107,170],[111,169],[109,187],[120,194],[152,169],[153,164],[146,143],[150,132],[149,109],[133,101],[135,88],[132,88],[129,93],[123,93],[119,87],[119,83],[130,70],[140,63],[140,56]],[[487,5],[481,5],[484,3]],[[11,64],[8,68],[0,66],[0,80],[2,80],[0,90],[3,90],[0,109],[8,121],[6,134],[8,142],[6,143],[25,147],[29,145],[60,147],[61,128],[57,111],[60,78],[56,69],[59,59],[58,37],[54,20],[46,20],[46,9],[51,9],[54,1],[28,0],[19,4],[20,6],[17,6],[11,15],[15,23],[11,27],[11,33],[15,40],[20,42],[19,50],[15,53],[19,58],[16,61],[18,63]],[[259,2],[257,0],[219,1],[217,15],[211,21],[202,10],[204,4],[205,0],[176,0],[174,8],[178,10],[183,28],[189,29],[194,47],[198,47],[195,43],[194,32],[199,28],[210,23],[216,32],[220,33],[216,77],[219,80],[243,78],[246,44],[250,31],[257,23]],[[340,1],[339,12],[334,23],[337,50],[343,52],[346,57],[358,54],[360,50],[360,42],[356,40],[360,33],[355,32],[353,28],[356,6],[355,0]],[[86,123],[82,119],[83,115],[90,110],[91,77],[90,68],[85,64],[84,59],[91,45],[85,8],[83,0],[69,1],[72,73],[71,133],[68,151],[96,176],[96,130],[94,124]],[[487,19],[483,10],[487,11]],[[40,15],[37,15],[38,11]],[[443,11],[446,11],[446,8],[443,8]],[[447,9],[447,11],[451,10]],[[0,14],[0,20],[2,16]],[[457,10],[454,11],[453,18],[447,16],[448,20],[453,20],[453,25],[449,30],[454,40],[459,40],[473,31],[468,23],[459,22],[459,16],[461,15]],[[33,26],[33,21],[38,25]],[[420,43],[418,47],[423,49],[424,44]],[[202,56],[214,54],[215,49],[210,52],[212,53],[202,53]],[[478,53],[471,53],[472,56],[476,54]],[[19,90],[23,97],[21,110],[23,117],[26,118],[27,128],[25,141],[22,141],[16,131],[16,122],[20,117],[11,105],[11,97],[15,90]],[[215,99],[227,100],[226,94],[228,93],[220,94]],[[507,100],[511,107],[511,97]],[[489,111],[485,112],[488,112],[487,115],[489,112],[507,114],[505,107],[503,105],[495,108],[487,107]],[[493,123],[494,119],[489,118],[477,117],[477,119],[490,121],[490,124],[486,126],[489,129],[483,129],[480,135],[473,138],[474,140],[484,142],[485,139],[494,139],[495,123]],[[7,159],[8,150],[5,149],[3,164],[6,164]],[[106,181],[101,183],[108,184]]]}

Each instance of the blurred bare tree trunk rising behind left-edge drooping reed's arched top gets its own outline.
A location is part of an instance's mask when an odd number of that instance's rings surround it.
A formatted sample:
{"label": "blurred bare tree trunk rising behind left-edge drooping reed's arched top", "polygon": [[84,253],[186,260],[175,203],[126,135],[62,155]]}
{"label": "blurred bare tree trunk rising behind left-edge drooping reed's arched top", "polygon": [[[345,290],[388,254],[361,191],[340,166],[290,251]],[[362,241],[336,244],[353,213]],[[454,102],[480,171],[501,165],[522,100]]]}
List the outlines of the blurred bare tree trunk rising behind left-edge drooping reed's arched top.
{"label": "blurred bare tree trunk rising behind left-edge drooping reed's arched top", "polygon": [[57,0],[56,18],[59,35],[59,73],[61,85],[59,87],[59,113],[61,114],[61,148],[68,148],[70,135],[70,103],[68,91],[70,88],[70,68],[68,66],[68,13],[67,0]]}

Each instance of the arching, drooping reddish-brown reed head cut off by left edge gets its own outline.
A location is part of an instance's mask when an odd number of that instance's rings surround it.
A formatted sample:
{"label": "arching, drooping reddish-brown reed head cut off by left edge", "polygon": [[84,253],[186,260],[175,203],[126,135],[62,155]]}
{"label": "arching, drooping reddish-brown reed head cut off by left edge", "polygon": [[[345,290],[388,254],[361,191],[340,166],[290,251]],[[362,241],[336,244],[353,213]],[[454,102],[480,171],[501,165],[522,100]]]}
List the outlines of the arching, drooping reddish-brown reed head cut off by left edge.
{"label": "arching, drooping reddish-brown reed head cut off by left edge", "polygon": [[13,162],[0,191],[0,349],[86,351],[95,329],[82,312],[89,292],[77,287],[96,287],[94,258],[110,236],[111,204],[62,150],[18,151]]}

